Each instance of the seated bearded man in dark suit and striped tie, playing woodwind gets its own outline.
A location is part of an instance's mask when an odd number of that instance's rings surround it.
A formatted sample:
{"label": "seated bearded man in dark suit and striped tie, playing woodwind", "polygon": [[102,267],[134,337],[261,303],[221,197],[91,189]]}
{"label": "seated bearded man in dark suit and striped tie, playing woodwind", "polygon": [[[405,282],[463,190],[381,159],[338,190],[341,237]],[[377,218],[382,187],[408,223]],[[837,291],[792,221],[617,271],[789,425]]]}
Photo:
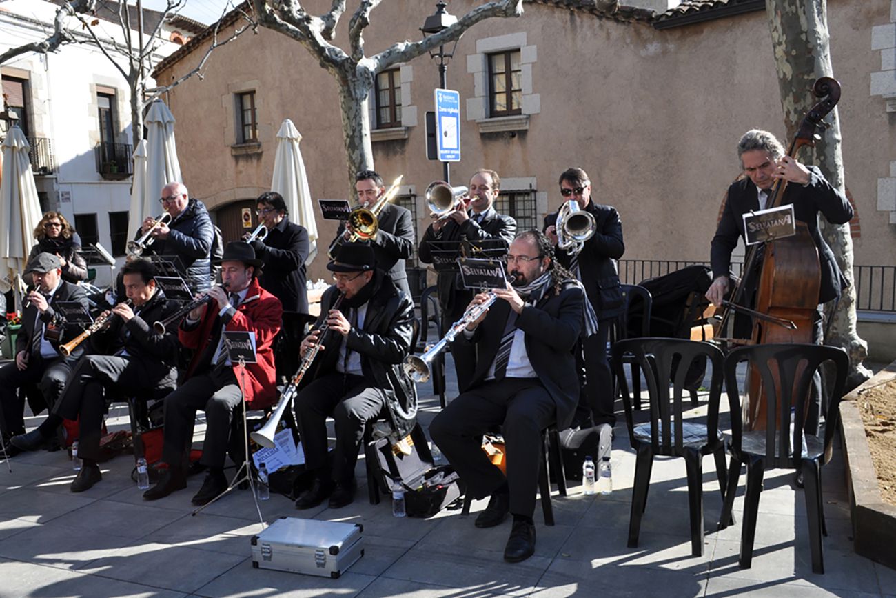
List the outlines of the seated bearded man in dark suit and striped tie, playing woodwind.
{"label": "seated bearded man in dark suit and striped tie, playing woodwind", "polygon": [[[435,416],[433,441],[475,498],[491,495],[476,519],[492,527],[513,515],[504,559],[528,559],[535,550],[535,491],[540,432],[573,419],[579,383],[573,347],[582,332],[585,294],[553,258],[547,237],[530,230],[507,254],[513,286],[493,290],[497,300],[454,341],[455,359],[473,371],[470,385]],[[484,303],[487,293],[470,307]],[[482,435],[502,425],[507,475],[482,450]]]}

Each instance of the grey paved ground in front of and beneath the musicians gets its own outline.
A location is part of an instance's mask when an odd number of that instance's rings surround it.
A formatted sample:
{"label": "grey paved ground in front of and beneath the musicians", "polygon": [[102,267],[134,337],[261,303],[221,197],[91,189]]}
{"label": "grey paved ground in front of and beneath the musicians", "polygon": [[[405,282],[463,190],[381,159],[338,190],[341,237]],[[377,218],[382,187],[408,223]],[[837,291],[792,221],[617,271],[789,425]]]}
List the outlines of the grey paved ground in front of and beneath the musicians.
{"label": "grey paved ground in front of and beneath the musicians", "polygon": [[[453,369],[449,364],[453,385]],[[420,420],[439,410],[429,385],[420,387]],[[452,386],[449,397],[456,394]],[[705,397],[692,415],[706,412]],[[726,401],[723,400],[723,411]],[[621,405],[617,404],[621,410]],[[126,413],[110,413],[110,429]],[[40,418],[28,420],[29,429]],[[727,422],[727,417],[724,418]],[[723,428],[724,428],[723,422]],[[197,426],[197,439],[202,425]],[[17,596],[896,596],[896,571],[852,550],[849,504],[839,449],[823,468],[826,573],[812,573],[802,490],[792,472],[765,477],[753,568],[737,565],[745,476],[736,500],[738,524],[716,532],[721,501],[712,458],[704,460],[705,550],[692,557],[685,464],[658,458],[638,548],[626,548],[634,454],[622,421],[613,451],[614,491],[552,498],[556,525],[536,509],[536,554],[520,564],[502,559],[510,523],[479,530],[473,516],[444,511],[428,520],[392,517],[388,500],[298,512],[279,495],[262,502],[265,521],[314,517],[364,525],[366,554],[339,579],[252,567],[249,538],[261,531],[249,491],[235,490],[198,516],[190,498],[202,483],[156,502],[142,500],[131,481],[133,459],[103,464],[103,481],[82,494],[68,490],[74,473],[65,453],[39,452],[0,464],[0,597]],[[364,481],[363,455],[358,480]]]}

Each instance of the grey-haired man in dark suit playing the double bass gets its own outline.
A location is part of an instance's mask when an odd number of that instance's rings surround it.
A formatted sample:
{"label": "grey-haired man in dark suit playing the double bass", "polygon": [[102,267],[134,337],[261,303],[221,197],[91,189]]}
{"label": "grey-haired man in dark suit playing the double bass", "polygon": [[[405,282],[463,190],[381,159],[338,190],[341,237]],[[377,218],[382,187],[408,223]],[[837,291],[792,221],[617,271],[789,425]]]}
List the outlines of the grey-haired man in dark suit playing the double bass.
{"label": "grey-haired man in dark suit playing the double bass", "polygon": [[[822,238],[818,228],[818,213],[823,213],[831,224],[845,224],[852,218],[852,206],[824,178],[821,170],[785,155],[784,147],[767,131],[747,131],[737,143],[737,156],[745,177],[728,187],[719,226],[712,238],[711,264],[714,280],[706,292],[706,298],[716,306],[721,305],[722,299],[725,299],[731,287],[731,252],[737,247],[737,238],[744,237],[744,213],[764,209],[771,198],[771,187],[775,181],[783,179],[789,185],[782,205],[793,204],[794,216],[797,221],[806,223],[815,247],[818,248],[821,265],[820,305],[814,317],[812,340],[820,343],[823,341],[823,304],[831,299],[840,299],[840,291],[846,289],[849,282],[840,272],[831,247]],[[758,272],[744,273],[745,307],[753,307],[758,275]],[[750,336],[749,331],[739,325],[737,320],[735,335]],[[814,386],[814,401],[810,403],[806,415],[806,433],[817,434],[821,409],[821,378],[817,374]]]}

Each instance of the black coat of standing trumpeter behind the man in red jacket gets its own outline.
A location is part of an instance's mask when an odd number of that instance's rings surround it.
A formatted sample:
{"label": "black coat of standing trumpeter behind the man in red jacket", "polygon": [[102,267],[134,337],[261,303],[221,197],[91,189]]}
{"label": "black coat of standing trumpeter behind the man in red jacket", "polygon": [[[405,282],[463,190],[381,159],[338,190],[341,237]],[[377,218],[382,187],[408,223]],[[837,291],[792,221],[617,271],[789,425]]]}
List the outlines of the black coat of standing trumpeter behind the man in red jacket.
{"label": "black coat of standing trumpeter behind the man in red jacket", "polygon": [[264,241],[253,241],[255,257],[264,261],[261,282],[283,306],[283,311],[308,313],[305,261],[308,258],[308,231],[284,218],[268,231]]}

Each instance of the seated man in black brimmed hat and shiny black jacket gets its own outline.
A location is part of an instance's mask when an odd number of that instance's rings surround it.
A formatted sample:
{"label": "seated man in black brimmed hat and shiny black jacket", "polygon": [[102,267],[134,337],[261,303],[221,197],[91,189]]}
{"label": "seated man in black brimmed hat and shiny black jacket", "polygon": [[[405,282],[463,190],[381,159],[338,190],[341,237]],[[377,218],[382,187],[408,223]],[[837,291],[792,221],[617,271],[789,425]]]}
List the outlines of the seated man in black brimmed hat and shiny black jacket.
{"label": "seated man in black brimmed hat and shiny black jacket", "polygon": [[[358,488],[355,464],[367,422],[382,412],[392,428],[390,436],[401,439],[413,429],[417,415],[417,391],[401,368],[414,321],[409,295],[375,268],[374,250],[365,243],[342,245],[327,269],[336,284],[324,291],[321,316],[300,349],[305,359],[321,343],[295,403],[306,467],[314,472],[311,487],[296,500],[299,509],[316,507],[326,498],[330,508],[349,505]],[[329,328],[322,336],[324,323]],[[327,456],[327,416],[336,427],[332,458]]]}

